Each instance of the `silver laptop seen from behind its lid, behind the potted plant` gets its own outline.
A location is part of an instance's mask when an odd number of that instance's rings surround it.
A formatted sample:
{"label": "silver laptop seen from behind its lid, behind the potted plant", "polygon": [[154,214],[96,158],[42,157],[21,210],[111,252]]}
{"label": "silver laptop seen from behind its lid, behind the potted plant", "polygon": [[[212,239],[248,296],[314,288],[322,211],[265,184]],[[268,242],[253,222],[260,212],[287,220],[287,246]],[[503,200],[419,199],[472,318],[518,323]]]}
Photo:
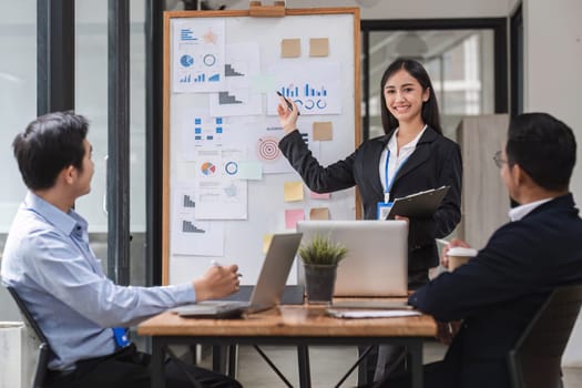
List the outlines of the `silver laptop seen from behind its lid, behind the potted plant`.
{"label": "silver laptop seen from behind its lid, behind the potted plant", "polygon": [[[406,221],[299,221],[303,243],[316,234],[348,248],[337,268],[334,296],[406,296],[408,292],[408,224]],[[305,284],[303,265],[298,284]]]}

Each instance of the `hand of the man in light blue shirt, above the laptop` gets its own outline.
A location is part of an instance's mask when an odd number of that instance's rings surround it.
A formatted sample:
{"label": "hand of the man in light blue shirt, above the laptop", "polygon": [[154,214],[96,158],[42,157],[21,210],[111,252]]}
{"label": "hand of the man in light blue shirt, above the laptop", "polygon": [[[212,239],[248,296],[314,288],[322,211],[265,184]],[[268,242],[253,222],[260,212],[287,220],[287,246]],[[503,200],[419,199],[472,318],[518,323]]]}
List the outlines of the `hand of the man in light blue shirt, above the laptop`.
{"label": "hand of the man in light blue shirt, above the laptop", "polygon": [[193,283],[196,302],[222,298],[237,292],[241,285],[237,270],[235,264],[208,268],[203,277]]}

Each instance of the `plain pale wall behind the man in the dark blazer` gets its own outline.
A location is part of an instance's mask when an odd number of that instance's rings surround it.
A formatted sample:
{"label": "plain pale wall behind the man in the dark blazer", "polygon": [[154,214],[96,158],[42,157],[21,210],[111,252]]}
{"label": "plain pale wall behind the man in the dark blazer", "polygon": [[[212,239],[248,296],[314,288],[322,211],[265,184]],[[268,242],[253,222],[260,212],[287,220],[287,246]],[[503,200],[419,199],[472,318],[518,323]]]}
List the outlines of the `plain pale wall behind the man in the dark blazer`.
{"label": "plain pale wall behind the man in the dark blazer", "polygon": [[[524,0],[524,109],[565,122],[578,140],[578,165],[571,190],[582,205],[582,1]],[[582,315],[562,364],[582,367]]]}

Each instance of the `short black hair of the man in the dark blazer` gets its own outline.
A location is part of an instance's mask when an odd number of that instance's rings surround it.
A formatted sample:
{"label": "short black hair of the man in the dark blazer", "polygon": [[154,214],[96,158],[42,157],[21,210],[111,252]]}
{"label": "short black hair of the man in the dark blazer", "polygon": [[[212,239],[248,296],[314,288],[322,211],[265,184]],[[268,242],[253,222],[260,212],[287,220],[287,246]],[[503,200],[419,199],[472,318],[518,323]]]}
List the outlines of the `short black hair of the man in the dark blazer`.
{"label": "short black hair of the man in the dark blazer", "polygon": [[576,162],[572,130],[547,113],[524,113],[509,124],[508,163],[519,164],[539,186],[568,190]]}

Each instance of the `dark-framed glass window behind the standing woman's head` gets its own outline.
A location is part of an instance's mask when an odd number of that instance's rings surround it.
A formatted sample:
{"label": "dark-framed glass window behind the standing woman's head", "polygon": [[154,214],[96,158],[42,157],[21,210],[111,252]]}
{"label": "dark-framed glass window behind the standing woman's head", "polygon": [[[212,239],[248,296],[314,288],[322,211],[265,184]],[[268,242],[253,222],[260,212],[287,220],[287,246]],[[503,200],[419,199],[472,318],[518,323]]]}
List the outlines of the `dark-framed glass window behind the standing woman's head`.
{"label": "dark-framed glass window behind the standing woman's head", "polygon": [[493,113],[492,30],[374,31],[369,37],[370,137],[384,133],[380,81],[398,57],[415,58],[427,69],[448,137],[457,137],[462,116]]}

